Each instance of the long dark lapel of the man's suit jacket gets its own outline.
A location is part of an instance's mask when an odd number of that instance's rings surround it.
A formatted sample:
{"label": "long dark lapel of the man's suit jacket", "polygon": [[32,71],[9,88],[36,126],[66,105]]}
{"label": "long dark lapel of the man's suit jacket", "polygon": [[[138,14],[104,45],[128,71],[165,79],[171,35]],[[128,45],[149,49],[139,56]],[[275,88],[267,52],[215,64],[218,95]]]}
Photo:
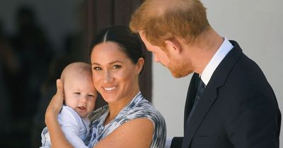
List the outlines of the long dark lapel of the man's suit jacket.
{"label": "long dark lapel of the man's suit jacket", "polygon": [[[229,75],[229,72],[233,68],[233,65],[238,61],[238,58],[242,55],[242,50],[238,44],[234,41],[230,41],[233,44],[233,49],[225,56],[221,61],[219,66],[214,70],[212,78],[210,78],[207,87],[200,98],[199,103],[195,112],[192,114],[190,121],[186,122],[186,128],[184,132],[184,139],[182,148],[187,148],[192,141],[192,137],[195,136],[197,129],[200,127],[202,120],[209,112],[209,109],[214,104],[218,94],[217,89],[224,85],[226,78]],[[191,96],[190,96],[191,97]],[[189,98],[190,100],[190,98]]]}

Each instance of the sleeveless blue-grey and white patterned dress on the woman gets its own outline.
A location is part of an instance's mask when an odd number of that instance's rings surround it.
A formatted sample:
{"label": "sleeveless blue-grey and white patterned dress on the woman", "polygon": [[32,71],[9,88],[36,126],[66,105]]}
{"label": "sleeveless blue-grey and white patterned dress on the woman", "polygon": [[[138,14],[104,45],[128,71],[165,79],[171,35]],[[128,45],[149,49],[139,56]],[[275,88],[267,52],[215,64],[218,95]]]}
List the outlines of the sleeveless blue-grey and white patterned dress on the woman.
{"label": "sleeveless blue-grey and white patterned dress on the woman", "polygon": [[93,147],[123,123],[135,118],[148,118],[154,123],[151,148],[163,148],[166,140],[166,123],[163,116],[139,92],[127,106],[107,125],[103,125],[109,113],[108,105],[91,113],[92,134],[88,147]]}

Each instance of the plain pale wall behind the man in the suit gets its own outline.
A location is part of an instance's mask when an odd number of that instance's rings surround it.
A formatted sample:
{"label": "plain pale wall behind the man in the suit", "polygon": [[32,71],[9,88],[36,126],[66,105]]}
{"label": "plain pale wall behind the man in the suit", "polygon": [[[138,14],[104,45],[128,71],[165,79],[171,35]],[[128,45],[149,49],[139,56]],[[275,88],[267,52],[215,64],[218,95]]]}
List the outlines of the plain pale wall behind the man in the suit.
{"label": "plain pale wall behind the man in the suit", "polygon": [[[283,1],[202,2],[212,27],[221,36],[236,40],[243,52],[262,68],[283,111]],[[166,68],[154,63],[153,103],[166,118],[168,137],[183,135],[183,111],[190,77],[175,79]],[[282,134],[281,130],[281,145]]]}

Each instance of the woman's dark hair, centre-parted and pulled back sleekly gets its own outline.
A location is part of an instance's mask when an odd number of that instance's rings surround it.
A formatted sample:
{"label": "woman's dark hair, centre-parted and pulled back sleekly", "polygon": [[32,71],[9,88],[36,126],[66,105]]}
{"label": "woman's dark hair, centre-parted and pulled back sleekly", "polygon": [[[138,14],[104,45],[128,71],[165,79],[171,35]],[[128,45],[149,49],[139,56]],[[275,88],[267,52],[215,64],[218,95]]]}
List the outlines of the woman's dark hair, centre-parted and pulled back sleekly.
{"label": "woman's dark hair, centre-parted and pulled back sleekly", "polygon": [[100,30],[91,41],[90,54],[96,45],[103,42],[115,42],[133,63],[137,63],[139,58],[144,58],[141,41],[137,34],[131,32],[128,27],[122,25],[112,25]]}

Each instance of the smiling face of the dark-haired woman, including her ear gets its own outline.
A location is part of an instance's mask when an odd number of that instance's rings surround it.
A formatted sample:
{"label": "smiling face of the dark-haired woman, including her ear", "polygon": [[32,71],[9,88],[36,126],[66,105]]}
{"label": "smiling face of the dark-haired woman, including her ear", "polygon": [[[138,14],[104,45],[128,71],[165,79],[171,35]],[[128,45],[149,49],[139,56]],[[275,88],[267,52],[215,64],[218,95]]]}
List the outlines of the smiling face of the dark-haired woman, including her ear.
{"label": "smiling face of the dark-haired woman, including her ear", "polygon": [[127,104],[139,92],[143,64],[143,58],[132,63],[114,42],[98,44],[91,53],[94,86],[109,104]]}

